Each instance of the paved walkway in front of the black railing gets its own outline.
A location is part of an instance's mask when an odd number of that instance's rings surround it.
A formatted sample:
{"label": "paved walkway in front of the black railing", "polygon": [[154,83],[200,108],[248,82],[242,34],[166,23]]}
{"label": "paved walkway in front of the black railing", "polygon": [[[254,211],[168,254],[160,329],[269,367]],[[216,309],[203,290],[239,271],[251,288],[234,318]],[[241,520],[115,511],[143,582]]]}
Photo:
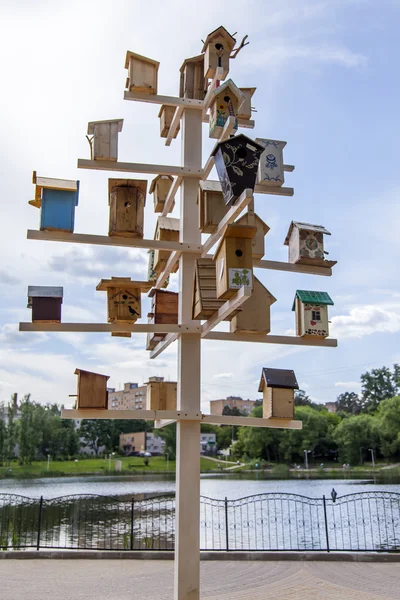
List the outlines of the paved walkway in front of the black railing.
{"label": "paved walkway in front of the black railing", "polygon": [[[397,563],[201,564],[201,600],[400,599]],[[1,600],[172,600],[173,562],[3,560]]]}

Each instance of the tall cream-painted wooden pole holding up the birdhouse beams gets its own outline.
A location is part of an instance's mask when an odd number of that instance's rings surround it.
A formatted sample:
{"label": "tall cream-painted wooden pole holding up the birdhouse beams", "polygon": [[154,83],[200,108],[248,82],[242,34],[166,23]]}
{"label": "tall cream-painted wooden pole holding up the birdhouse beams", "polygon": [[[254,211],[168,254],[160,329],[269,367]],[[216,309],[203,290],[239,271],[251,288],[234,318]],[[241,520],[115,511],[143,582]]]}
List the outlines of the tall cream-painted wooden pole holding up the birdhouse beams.
{"label": "tall cream-painted wooden pole holding up the birdhouse beams", "polygon": [[[201,168],[202,114],[186,109],[182,117],[182,164]],[[199,182],[184,177],[181,186],[180,241],[200,243]],[[192,321],[195,255],[179,259],[179,322]],[[200,411],[200,335],[178,340],[178,410]],[[174,600],[200,597],[200,423],[176,424],[176,529]]]}

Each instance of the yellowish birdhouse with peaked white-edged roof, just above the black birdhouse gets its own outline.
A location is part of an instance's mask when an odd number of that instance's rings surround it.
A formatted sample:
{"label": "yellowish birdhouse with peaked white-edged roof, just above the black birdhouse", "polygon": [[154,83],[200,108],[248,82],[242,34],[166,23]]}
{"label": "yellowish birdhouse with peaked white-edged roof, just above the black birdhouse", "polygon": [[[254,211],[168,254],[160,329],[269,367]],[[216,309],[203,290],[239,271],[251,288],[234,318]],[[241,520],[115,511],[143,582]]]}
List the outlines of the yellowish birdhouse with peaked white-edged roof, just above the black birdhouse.
{"label": "yellowish birdhouse with peaked white-edged roof, just above the black birdhouse", "polygon": [[209,137],[219,138],[228,117],[235,118],[235,127],[238,128],[238,112],[245,100],[244,95],[231,79],[212,92],[210,103]]}

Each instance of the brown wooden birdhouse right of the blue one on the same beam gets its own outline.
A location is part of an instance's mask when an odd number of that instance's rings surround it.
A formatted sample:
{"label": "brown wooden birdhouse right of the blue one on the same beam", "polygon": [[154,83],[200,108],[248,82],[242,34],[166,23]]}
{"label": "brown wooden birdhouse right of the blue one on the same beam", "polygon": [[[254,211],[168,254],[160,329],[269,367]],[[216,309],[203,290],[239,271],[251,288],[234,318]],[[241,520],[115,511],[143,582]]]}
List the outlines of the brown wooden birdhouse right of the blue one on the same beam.
{"label": "brown wooden birdhouse right of the blue one on the same beam", "polygon": [[108,235],[143,237],[146,190],[146,180],[108,180],[108,204],[110,206]]}

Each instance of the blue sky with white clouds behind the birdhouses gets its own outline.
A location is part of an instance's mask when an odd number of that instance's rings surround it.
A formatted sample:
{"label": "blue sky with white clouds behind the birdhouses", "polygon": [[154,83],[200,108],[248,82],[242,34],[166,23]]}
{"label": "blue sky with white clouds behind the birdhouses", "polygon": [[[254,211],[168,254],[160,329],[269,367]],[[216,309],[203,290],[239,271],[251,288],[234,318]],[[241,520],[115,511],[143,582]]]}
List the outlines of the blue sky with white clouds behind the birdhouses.
{"label": "blue sky with white clouds behind the birdhouses", "polygon": [[[262,367],[293,369],[314,401],[328,402],[359,392],[361,373],[400,362],[400,1],[231,0],[225,13],[210,0],[0,2],[0,402],[17,392],[71,407],[77,367],[109,375],[117,389],[152,375],[176,380],[176,343],[151,360],[145,334],[18,331],[31,320],[28,285],[63,286],[65,322],[106,322],[100,279],[147,273],[143,250],[27,240],[40,216],[28,200],[33,170],[79,179],[75,232],[107,235],[107,180],[118,174],[77,169],[78,158],[89,158],[87,123],[124,119],[121,161],[179,165],[180,135],[165,146],[159,107],[123,100],[125,53],[160,61],[159,93],[177,95],[180,65],[219,25],[239,40],[249,36],[229,74],[240,87],[257,87],[256,127],[242,131],[286,141],[285,163],[295,165],[285,182],[293,197],[256,195],[256,212],[271,228],[264,258],[287,261],[283,241],[299,220],[332,233],[325,249],[338,261],[330,278],[256,271],[277,298],[271,333],[294,335],[296,289],[326,291],[338,347],[203,341],[203,411],[212,399],[259,397]],[[204,124],[204,162],[213,143]],[[149,196],[146,238],[155,221]],[[143,315],[148,307],[142,296]]]}

